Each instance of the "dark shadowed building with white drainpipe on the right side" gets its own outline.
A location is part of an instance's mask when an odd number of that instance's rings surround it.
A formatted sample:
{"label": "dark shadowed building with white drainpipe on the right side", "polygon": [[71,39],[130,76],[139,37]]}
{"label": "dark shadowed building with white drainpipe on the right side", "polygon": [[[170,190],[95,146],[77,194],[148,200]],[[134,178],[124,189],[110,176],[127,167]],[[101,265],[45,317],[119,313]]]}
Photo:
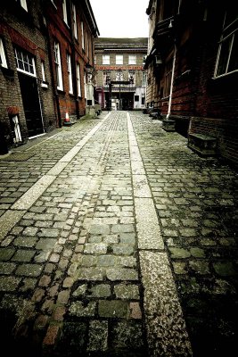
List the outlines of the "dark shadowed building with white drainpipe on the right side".
{"label": "dark shadowed building with white drainpipe on the right side", "polygon": [[217,138],[238,162],[238,16],[233,1],[151,0],[146,104],[177,131]]}

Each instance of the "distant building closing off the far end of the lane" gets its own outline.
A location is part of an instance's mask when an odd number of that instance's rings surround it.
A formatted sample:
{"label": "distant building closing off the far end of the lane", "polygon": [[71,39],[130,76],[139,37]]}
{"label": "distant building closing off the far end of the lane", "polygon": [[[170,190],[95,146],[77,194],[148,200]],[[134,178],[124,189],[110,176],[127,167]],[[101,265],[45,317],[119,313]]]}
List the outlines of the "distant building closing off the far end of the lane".
{"label": "distant building closing off the far end of the lane", "polygon": [[147,45],[147,37],[95,40],[95,97],[103,109],[144,108]]}

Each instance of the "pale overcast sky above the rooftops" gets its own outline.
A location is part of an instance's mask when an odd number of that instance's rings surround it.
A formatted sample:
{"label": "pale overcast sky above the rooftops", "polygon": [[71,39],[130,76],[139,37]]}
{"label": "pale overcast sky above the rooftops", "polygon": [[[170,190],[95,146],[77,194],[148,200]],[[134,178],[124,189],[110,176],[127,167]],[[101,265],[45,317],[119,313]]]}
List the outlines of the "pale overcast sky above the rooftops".
{"label": "pale overcast sky above the rooftops", "polygon": [[149,0],[89,0],[100,37],[148,37]]}

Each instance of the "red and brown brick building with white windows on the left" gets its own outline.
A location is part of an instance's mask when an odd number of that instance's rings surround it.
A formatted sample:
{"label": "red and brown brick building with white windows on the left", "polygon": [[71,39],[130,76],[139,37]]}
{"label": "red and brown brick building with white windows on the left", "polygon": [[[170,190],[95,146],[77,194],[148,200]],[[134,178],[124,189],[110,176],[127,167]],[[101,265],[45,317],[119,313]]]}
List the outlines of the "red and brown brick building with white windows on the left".
{"label": "red and brown brick building with white windows on the left", "polygon": [[0,152],[85,114],[98,34],[88,0],[1,2]]}

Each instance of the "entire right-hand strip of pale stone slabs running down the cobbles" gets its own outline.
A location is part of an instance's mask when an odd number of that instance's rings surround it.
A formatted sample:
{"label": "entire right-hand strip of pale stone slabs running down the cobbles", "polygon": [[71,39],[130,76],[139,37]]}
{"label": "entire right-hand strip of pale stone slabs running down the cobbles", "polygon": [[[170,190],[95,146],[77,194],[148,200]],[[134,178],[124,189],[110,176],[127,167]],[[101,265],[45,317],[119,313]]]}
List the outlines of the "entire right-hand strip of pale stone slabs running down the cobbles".
{"label": "entire right-hand strip of pale stone slabs running down the cobbles", "polygon": [[176,285],[167,253],[164,251],[157,212],[128,113],[127,129],[150,356],[192,356],[183,312],[176,294]]}

